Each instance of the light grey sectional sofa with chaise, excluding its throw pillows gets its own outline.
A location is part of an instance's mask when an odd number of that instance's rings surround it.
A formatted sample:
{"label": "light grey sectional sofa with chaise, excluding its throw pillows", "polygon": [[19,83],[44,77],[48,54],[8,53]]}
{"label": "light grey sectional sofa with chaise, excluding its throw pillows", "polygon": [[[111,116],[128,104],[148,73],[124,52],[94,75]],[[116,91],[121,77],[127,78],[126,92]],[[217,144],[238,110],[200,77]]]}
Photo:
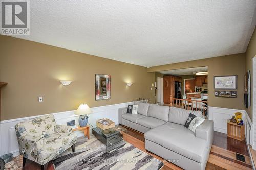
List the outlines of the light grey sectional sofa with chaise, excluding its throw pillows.
{"label": "light grey sectional sofa with chaise, excluding its throw pillows", "polygon": [[183,169],[205,169],[213,140],[213,122],[204,120],[196,133],[184,127],[190,113],[201,111],[134,102],[138,114],[119,109],[119,124],[144,133],[145,148]]}

